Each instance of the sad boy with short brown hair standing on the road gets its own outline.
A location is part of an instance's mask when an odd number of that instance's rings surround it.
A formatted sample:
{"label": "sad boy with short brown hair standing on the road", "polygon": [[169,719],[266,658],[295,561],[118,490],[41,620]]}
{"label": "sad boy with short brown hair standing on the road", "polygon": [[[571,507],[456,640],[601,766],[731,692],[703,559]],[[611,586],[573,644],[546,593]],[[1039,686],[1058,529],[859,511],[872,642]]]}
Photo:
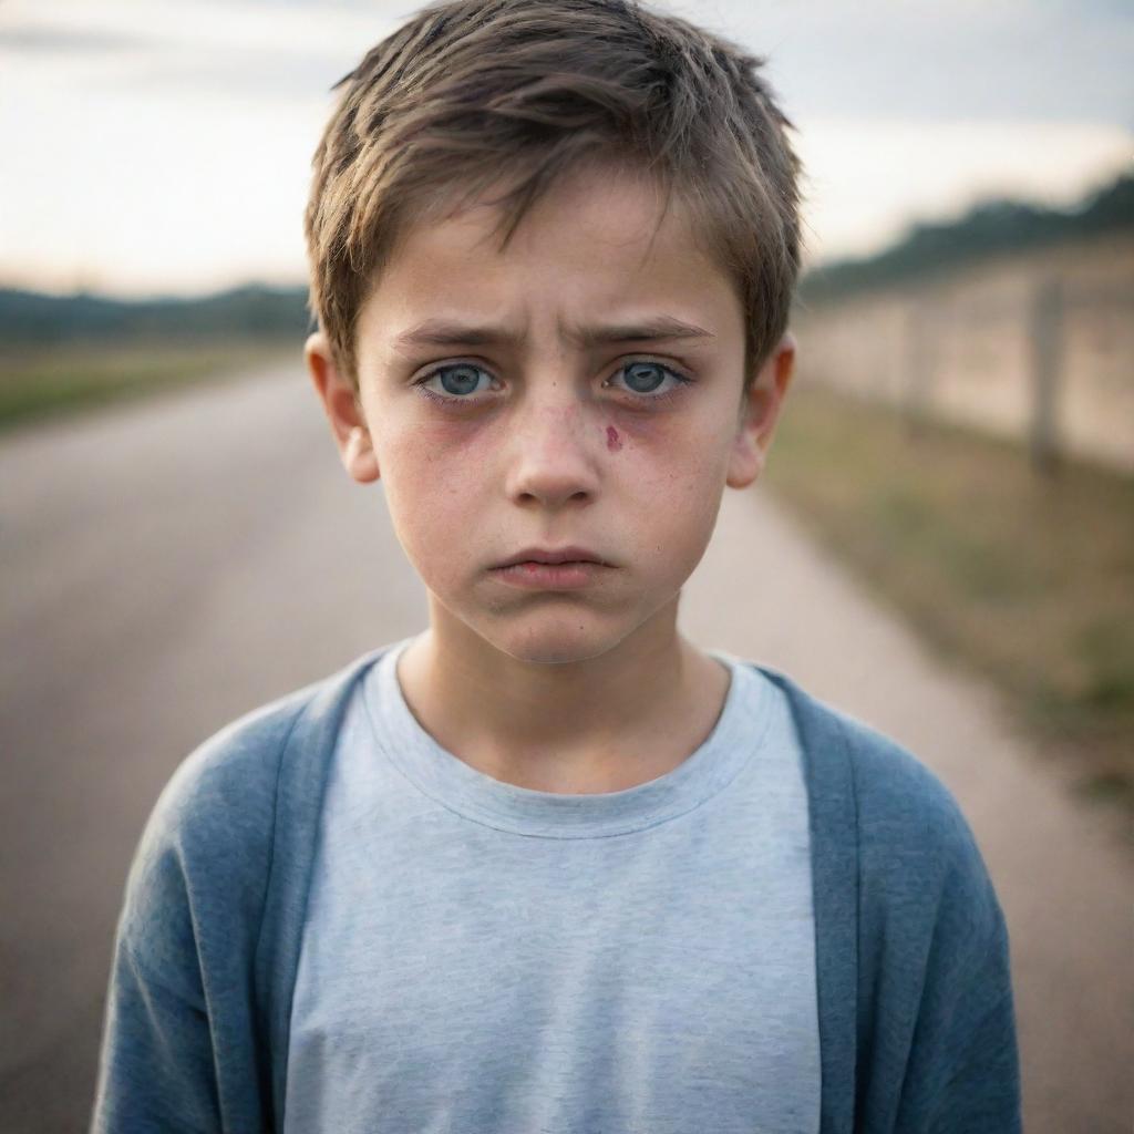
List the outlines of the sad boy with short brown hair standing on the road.
{"label": "sad boy with short brown hair standing on the road", "polygon": [[676,629],[793,371],[758,67],[623,0],[456,0],[344,81],[307,364],[430,626],[170,781],[95,1129],[1018,1129],[950,796]]}

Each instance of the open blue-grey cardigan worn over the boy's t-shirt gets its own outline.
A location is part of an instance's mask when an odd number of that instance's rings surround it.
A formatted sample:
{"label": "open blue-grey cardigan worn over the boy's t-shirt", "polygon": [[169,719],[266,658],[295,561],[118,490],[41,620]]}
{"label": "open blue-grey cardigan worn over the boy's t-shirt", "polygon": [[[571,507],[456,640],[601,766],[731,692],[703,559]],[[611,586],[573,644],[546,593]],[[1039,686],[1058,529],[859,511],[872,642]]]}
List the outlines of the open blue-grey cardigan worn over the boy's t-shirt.
{"label": "open blue-grey cardigan worn over the boy's t-shirt", "polygon": [[[126,885],[92,1131],[282,1129],[323,788],[382,652],[234,721],[166,786]],[[1007,931],[956,802],[903,748],[756,668],[804,752],[821,1134],[1018,1132]]]}

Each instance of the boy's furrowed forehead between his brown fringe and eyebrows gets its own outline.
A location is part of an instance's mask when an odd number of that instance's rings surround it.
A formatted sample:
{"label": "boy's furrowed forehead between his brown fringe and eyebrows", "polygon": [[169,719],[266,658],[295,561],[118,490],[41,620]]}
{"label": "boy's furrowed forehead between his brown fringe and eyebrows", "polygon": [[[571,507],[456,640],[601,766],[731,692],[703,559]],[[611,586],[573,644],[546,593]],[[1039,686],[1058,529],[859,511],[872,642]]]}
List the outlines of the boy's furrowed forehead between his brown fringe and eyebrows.
{"label": "boy's furrowed forehead between his brown fringe and eyebrows", "polygon": [[407,225],[361,313],[363,336],[538,316],[585,338],[601,314],[608,324],[668,319],[678,333],[709,337],[743,321],[731,279],[676,194],[667,201],[643,178],[593,171],[543,195],[503,246],[492,198]]}

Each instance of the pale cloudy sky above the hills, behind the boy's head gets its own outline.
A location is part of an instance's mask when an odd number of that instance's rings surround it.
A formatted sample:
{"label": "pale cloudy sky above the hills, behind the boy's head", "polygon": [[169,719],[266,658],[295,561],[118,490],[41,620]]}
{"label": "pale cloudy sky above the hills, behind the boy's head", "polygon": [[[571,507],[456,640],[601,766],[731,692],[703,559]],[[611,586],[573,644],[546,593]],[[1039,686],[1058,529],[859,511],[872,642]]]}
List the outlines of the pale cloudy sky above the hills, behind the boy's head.
{"label": "pale cloudy sky above the hills, behind the boy's head", "polygon": [[[1134,171],[1134,0],[667,0],[764,57],[810,262],[989,196]],[[0,286],[194,294],[306,279],[330,87],[389,0],[0,0]]]}

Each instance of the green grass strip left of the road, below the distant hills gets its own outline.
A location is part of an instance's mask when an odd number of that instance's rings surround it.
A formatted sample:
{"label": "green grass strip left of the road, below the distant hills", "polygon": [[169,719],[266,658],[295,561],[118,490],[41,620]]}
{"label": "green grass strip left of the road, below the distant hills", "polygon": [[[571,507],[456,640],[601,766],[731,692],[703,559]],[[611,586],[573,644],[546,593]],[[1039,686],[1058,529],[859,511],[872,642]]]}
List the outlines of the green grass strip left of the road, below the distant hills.
{"label": "green grass strip left of the road, below the distant hills", "polygon": [[132,341],[0,353],[0,430],[302,357],[302,338]]}

